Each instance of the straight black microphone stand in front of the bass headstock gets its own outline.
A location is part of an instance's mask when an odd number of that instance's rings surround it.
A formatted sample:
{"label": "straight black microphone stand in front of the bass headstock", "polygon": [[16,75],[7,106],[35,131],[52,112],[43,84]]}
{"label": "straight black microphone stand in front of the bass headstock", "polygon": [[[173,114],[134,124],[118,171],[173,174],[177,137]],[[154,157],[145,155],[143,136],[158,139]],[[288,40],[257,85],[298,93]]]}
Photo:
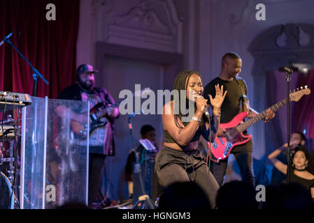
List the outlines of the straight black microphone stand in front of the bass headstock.
{"label": "straight black microphone stand in front of the bass headstock", "polygon": [[290,76],[293,70],[285,70],[287,79],[287,183],[290,183]]}

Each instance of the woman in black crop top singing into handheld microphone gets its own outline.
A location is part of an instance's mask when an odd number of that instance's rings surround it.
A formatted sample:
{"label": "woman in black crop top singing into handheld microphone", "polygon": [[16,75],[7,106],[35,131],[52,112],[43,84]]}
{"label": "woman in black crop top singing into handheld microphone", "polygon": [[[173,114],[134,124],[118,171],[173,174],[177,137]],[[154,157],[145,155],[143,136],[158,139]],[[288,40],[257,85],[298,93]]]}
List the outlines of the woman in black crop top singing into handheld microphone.
{"label": "woman in black crop top singing into handheld microphone", "polygon": [[[211,207],[214,208],[219,185],[199,151],[199,137],[202,135],[210,142],[215,139],[220,123],[220,107],[227,91],[223,92],[223,86],[221,88],[219,85],[215,86],[215,98],[210,96],[213,117],[208,121],[204,110],[207,110],[209,105],[202,97],[204,88],[199,72],[196,70],[180,72],[174,81],[173,89],[178,91],[177,100],[171,100],[163,107],[164,145],[157,153],[155,161],[157,178],[163,187],[175,182],[197,183],[208,196]],[[184,95],[180,93],[183,90],[186,91]],[[189,109],[189,101],[193,106],[194,116],[189,121],[183,121],[188,116],[180,105],[184,100],[187,109]],[[178,112],[174,112],[176,110]]]}

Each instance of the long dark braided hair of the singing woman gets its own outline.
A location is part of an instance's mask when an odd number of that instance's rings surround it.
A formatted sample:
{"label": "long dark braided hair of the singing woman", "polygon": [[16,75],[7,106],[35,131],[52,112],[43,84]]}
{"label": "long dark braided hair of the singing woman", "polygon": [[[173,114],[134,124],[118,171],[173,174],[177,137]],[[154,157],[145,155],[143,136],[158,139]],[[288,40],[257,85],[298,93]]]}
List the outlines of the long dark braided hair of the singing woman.
{"label": "long dark braided hair of the singing woman", "polygon": [[[199,77],[201,78],[201,75],[199,74],[199,72],[197,70],[184,70],[182,72],[179,72],[178,75],[176,76],[176,79],[174,80],[174,83],[173,83],[173,90],[178,91],[179,102],[175,102],[174,105],[178,105],[180,107],[181,101],[187,100],[186,94],[185,94],[184,98],[181,98],[180,91],[187,90],[187,84],[190,81],[190,77],[194,74],[199,75]],[[201,78],[201,82],[203,82],[202,78]],[[189,105],[189,103],[187,102],[187,106],[188,105]],[[178,118],[181,119],[182,116],[184,116],[184,115],[182,114],[181,109],[178,109],[178,112],[179,112],[179,114],[176,114],[176,113],[174,114],[174,122],[176,123],[176,126],[178,128],[183,128],[183,126],[179,125]]]}

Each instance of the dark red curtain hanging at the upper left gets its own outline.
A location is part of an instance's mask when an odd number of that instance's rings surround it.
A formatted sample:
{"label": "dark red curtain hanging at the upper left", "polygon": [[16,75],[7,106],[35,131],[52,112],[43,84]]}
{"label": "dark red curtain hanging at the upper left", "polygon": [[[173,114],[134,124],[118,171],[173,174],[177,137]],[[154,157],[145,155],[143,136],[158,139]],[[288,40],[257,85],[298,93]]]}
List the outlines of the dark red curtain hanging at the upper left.
{"label": "dark red curtain hanging at the upper left", "polygon": [[[56,20],[46,20],[49,3],[55,4]],[[0,39],[15,30],[11,42],[50,82],[46,85],[38,78],[38,97],[56,98],[76,81],[79,4],[79,0],[0,1]],[[0,46],[1,91],[33,95],[33,73],[11,45]]]}

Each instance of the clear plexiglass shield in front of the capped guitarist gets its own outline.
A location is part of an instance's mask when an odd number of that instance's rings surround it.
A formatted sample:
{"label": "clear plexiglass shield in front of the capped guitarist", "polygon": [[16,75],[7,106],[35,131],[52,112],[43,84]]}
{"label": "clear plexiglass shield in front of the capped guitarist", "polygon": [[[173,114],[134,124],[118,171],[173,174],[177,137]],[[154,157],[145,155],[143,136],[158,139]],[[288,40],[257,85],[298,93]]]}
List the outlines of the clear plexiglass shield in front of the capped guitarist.
{"label": "clear plexiglass shield in front of the capped guitarist", "polygon": [[31,99],[22,109],[20,207],[87,204],[89,114],[80,111],[88,102]]}

